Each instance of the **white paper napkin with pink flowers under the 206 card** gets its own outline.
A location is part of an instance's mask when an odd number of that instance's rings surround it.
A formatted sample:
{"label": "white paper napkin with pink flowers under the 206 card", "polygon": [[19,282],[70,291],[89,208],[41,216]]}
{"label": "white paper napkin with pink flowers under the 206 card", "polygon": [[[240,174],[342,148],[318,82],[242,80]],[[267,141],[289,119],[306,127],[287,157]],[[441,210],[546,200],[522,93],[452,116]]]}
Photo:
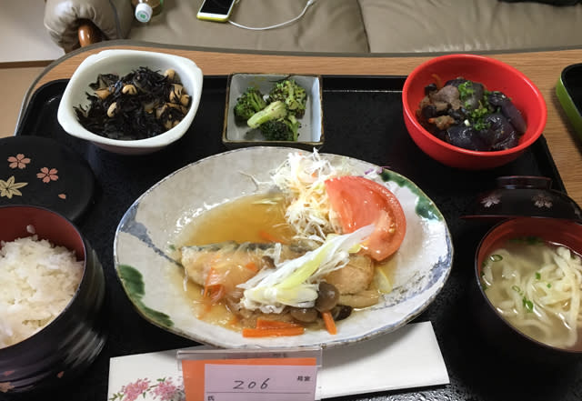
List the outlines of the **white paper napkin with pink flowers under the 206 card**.
{"label": "white paper napkin with pink flowers under the 206 card", "polygon": [[[448,383],[447,366],[433,327],[430,322],[422,322],[353,346],[324,350],[316,396],[320,399]],[[176,350],[111,358],[107,399],[121,401],[125,396],[143,401],[184,400]]]}

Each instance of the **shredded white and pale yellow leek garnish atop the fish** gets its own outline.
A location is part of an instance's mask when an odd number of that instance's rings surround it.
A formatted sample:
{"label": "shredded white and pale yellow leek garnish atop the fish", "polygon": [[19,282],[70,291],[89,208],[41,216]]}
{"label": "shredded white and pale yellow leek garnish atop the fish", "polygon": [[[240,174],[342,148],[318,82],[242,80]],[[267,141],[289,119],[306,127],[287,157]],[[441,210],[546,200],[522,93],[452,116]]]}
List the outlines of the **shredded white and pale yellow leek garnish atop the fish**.
{"label": "shredded white and pale yellow leek garnish atop the fish", "polygon": [[281,313],[285,306],[314,306],[321,278],[346,266],[350,252],[357,251],[373,231],[370,225],[350,234],[328,236],[322,246],[304,256],[276,264],[275,270],[261,270],[239,285],[245,290],[241,306],[264,313]]}

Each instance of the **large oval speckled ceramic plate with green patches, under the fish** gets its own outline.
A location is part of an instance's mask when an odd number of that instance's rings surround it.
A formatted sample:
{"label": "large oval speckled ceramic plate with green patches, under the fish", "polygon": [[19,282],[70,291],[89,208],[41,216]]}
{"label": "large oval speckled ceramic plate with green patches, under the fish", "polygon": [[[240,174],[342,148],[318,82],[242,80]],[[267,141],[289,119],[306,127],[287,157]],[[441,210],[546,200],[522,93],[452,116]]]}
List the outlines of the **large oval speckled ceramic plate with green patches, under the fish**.
{"label": "large oval speckled ceramic plate with green patches, under the fish", "polygon": [[[270,172],[286,160],[281,147],[256,146],[207,157],[166,176],[141,195],[122,218],[114,243],[117,275],[137,311],[151,323],[197,342],[226,348],[341,346],[387,333],[420,314],[445,285],[453,261],[447,223],[437,206],[402,175],[383,170],[377,181],[399,199],[406,214],[406,236],[391,263],[394,290],[376,306],[302,336],[245,338],[240,333],[196,319],[191,300],[176,286],[182,271],[171,259],[173,244],[192,219],[212,206],[263,191]],[[347,163],[353,175],[376,165],[340,155],[321,154],[334,165]],[[179,280],[178,280],[179,281]]]}

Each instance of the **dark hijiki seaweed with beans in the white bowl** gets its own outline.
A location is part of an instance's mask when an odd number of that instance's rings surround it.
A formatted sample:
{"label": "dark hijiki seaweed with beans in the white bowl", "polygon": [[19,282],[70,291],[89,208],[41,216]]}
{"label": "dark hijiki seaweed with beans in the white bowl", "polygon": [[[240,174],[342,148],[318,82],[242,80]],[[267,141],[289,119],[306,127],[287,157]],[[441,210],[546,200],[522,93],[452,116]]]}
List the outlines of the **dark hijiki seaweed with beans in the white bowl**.
{"label": "dark hijiki seaweed with beans in the white bowl", "polygon": [[140,66],[121,77],[99,74],[89,87],[89,105],[78,105],[75,114],[85,129],[110,139],[160,135],[178,125],[191,104],[173,69],[160,73]]}

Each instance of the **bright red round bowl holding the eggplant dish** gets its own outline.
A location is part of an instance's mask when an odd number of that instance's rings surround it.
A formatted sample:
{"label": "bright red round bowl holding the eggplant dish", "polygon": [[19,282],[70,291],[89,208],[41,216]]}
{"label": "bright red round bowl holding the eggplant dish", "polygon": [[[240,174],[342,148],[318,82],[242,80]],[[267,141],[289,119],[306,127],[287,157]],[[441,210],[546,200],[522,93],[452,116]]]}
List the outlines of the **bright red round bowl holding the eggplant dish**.
{"label": "bright red round bowl holding the eggplant dish", "polygon": [[[478,152],[449,145],[426,131],[416,118],[416,110],[425,96],[425,86],[435,83],[436,76],[443,84],[463,76],[511,98],[527,123],[519,145],[502,151]],[[546,102],[536,85],[511,65],[482,55],[442,55],[418,65],[406,78],[402,100],[406,128],[416,145],[440,163],[463,169],[493,168],[516,159],[536,142],[547,120]]]}

